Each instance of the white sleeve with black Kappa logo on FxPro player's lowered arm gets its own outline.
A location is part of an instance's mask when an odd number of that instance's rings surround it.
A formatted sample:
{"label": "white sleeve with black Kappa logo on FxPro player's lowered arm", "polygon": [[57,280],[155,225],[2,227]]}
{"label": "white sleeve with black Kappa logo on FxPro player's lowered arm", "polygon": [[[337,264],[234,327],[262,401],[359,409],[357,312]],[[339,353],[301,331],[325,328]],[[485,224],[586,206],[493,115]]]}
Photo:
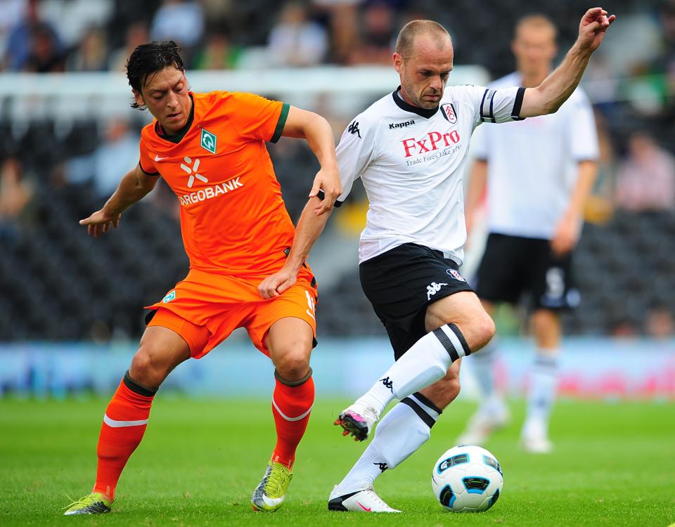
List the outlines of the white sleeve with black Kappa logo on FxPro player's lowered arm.
{"label": "white sleeve with black Kappa logo on FxPro player's lowered arm", "polygon": [[354,181],[361,177],[371,162],[375,144],[374,135],[374,127],[368,125],[363,115],[357,116],[342,133],[338,148],[335,150],[342,182],[342,195],[335,202],[335,207],[340,207],[347,199]]}

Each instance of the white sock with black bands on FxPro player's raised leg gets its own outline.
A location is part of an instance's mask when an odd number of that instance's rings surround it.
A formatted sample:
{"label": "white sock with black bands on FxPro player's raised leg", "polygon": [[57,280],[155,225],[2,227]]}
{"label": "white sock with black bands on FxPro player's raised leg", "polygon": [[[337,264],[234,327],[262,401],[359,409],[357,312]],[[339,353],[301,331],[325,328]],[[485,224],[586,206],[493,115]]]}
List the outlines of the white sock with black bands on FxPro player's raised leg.
{"label": "white sock with black bands on FxPro player's raised leg", "polygon": [[470,354],[459,328],[453,323],[443,325],[413,344],[356,404],[370,406],[380,415],[393,398],[403,400],[435,383],[455,360]]}

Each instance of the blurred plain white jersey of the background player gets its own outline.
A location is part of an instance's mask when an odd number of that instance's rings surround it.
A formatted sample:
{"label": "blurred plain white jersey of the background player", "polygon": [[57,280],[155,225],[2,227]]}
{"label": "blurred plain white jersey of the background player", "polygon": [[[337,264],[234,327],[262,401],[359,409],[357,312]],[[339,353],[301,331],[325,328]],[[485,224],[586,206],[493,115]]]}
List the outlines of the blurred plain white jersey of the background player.
{"label": "blurred plain white jersey of the background player", "polygon": [[[492,89],[520,84],[513,73]],[[577,88],[558,112],[477,132],[473,151],[488,162],[487,216],[491,233],[553,238],[567,211],[580,161],[598,158],[593,109]]]}

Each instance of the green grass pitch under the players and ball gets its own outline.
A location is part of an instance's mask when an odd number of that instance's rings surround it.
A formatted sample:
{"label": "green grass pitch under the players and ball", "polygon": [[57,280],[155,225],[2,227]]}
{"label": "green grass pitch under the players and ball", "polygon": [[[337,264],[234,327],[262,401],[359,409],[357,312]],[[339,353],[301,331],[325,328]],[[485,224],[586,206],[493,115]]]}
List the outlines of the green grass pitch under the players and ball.
{"label": "green grass pitch under the players and ball", "polygon": [[329,513],[328,493],[364,448],[333,427],[347,401],[317,401],[287,504],[255,514],[250,494],[274,444],[269,401],[158,396],[146,437],[127,465],[112,514],[60,516],[89,492],[105,401],[0,401],[1,526],[669,526],[675,522],[675,406],[561,401],[547,456],[518,449],[513,424],[487,445],[504,491],[482,514],[444,512],[432,464],[454,445],[473,404],[444,412],[431,440],[377,484],[399,515]]}

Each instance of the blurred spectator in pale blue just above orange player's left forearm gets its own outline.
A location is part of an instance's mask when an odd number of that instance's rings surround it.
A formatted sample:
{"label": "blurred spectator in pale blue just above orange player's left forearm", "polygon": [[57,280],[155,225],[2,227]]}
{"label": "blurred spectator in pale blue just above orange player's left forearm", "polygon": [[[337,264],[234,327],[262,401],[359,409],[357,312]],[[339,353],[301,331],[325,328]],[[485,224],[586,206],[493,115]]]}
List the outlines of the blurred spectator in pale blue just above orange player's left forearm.
{"label": "blurred spectator in pale blue just above orange player's left forearm", "polygon": [[139,140],[127,121],[111,120],[105,124],[101,145],[93,153],[65,163],[65,180],[75,185],[91,181],[97,198],[110,196],[122,176],[138,163]]}

